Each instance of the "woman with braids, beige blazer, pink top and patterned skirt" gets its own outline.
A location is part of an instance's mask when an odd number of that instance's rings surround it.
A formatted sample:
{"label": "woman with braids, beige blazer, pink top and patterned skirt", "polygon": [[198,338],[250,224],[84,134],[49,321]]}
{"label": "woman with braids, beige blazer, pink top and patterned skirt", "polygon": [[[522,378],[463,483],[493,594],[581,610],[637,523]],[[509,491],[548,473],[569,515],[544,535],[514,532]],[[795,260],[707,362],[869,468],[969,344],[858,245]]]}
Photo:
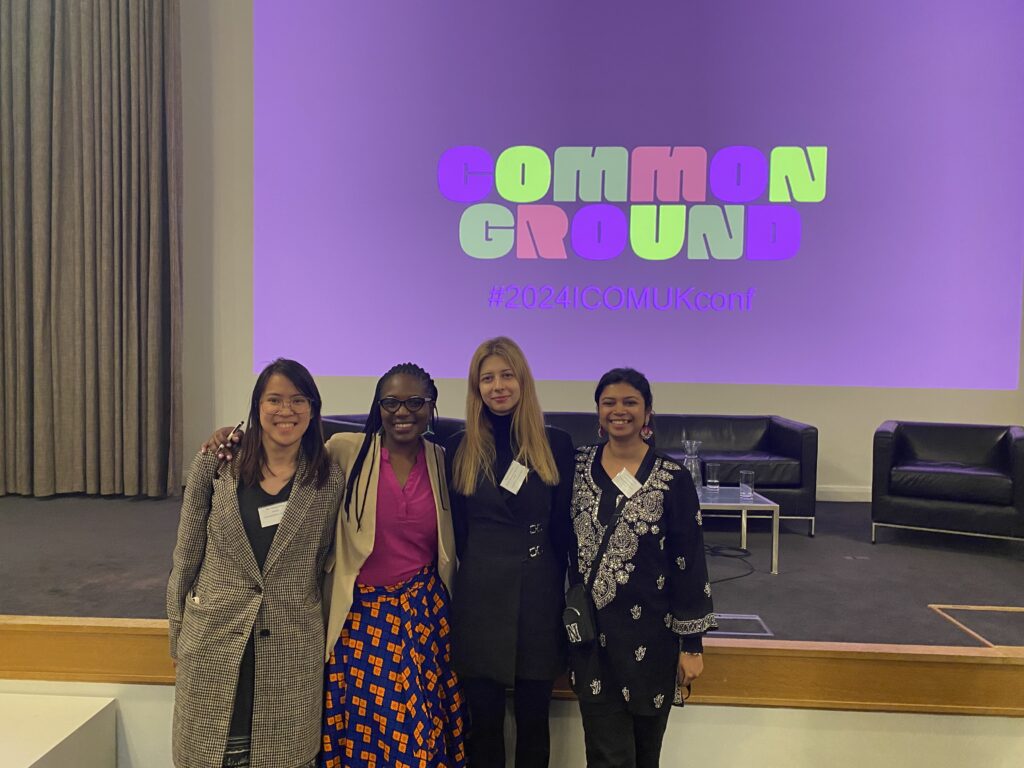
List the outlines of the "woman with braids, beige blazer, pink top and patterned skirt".
{"label": "woman with braids, beige blazer, pink top and patterned skirt", "polygon": [[[364,432],[327,443],[347,484],[324,578],[322,768],[466,765],[451,503],[442,451],[423,439],[436,401],[429,374],[400,364],[377,382]],[[239,439],[222,429],[207,449],[230,460]]]}

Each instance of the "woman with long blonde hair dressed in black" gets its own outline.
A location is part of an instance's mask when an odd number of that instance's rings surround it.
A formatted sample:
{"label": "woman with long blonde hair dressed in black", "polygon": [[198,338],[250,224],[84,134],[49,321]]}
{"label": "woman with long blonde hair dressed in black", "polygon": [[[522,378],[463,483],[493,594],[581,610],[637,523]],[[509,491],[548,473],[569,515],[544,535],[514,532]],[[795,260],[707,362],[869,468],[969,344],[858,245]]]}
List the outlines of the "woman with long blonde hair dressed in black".
{"label": "woman with long blonde hair dressed in black", "polygon": [[445,466],[469,763],[505,765],[505,689],[514,687],[516,768],[547,766],[551,690],[566,666],[573,449],[567,433],[544,426],[529,366],[511,339],[489,339],[473,354],[466,430],[445,446]]}

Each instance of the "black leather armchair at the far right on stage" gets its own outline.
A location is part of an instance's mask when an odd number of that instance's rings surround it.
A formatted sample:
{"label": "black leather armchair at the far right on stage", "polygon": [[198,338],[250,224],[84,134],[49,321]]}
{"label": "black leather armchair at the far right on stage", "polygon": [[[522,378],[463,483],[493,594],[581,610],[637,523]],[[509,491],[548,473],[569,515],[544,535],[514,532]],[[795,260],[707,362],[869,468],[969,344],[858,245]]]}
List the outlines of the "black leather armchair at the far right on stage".
{"label": "black leather armchair at the far right on stage", "polygon": [[1024,428],[887,421],[874,432],[879,527],[1024,540]]}

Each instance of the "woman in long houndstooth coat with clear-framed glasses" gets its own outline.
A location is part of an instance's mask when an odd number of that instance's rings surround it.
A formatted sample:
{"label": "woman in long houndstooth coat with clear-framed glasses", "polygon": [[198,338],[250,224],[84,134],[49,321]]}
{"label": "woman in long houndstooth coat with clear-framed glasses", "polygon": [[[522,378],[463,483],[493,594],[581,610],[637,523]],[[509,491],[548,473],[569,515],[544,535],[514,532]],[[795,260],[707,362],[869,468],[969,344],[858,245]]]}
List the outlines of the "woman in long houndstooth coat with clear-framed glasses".
{"label": "woman in long houndstooth coat with clear-framed glasses", "polygon": [[341,470],[309,372],[276,359],[253,387],[239,460],[193,462],[167,584],[180,768],[314,766],[321,750],[321,573]]}

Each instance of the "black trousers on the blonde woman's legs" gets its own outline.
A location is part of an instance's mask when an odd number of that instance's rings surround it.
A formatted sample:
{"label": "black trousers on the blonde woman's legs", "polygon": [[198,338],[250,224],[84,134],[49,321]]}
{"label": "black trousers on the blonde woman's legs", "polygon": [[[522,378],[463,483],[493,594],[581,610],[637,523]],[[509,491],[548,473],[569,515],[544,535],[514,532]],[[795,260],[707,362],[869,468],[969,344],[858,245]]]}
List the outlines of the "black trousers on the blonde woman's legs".
{"label": "black trousers on the blonde woman's legs", "polygon": [[[515,681],[515,768],[547,768],[551,756],[548,711],[554,680]],[[462,681],[469,706],[466,758],[470,768],[505,766],[505,686],[495,680]]]}

